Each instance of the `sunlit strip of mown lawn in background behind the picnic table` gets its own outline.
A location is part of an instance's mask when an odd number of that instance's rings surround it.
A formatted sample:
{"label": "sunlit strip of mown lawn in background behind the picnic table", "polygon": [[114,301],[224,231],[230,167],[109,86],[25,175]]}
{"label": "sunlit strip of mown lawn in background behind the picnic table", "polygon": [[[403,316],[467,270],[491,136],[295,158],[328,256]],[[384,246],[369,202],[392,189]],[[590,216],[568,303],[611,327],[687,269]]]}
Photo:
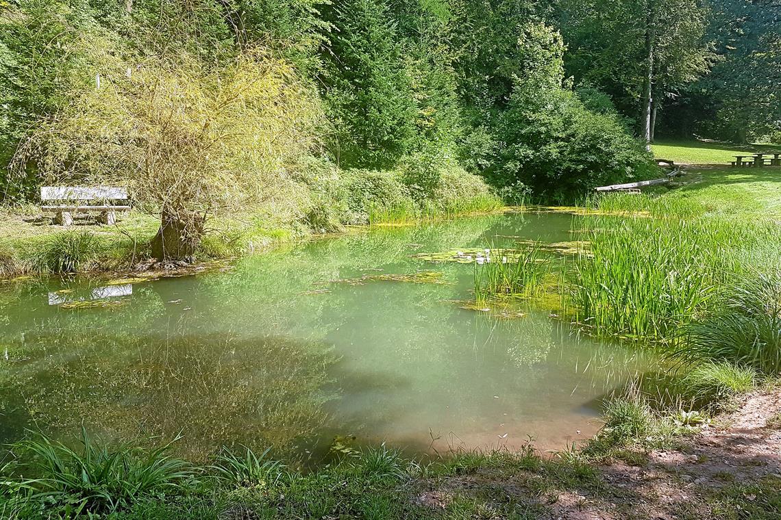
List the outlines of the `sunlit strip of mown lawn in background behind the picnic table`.
{"label": "sunlit strip of mown lawn in background behind the picnic table", "polygon": [[676,164],[729,164],[734,155],[754,154],[758,151],[781,151],[781,144],[741,146],[712,141],[657,140],[654,157],[675,161]]}

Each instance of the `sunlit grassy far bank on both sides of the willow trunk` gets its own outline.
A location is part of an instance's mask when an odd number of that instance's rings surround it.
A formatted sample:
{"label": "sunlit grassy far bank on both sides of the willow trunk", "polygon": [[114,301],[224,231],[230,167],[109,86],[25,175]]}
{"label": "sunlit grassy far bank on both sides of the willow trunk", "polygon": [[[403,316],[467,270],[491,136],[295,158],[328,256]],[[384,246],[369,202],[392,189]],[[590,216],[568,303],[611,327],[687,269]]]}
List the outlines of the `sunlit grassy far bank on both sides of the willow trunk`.
{"label": "sunlit grassy far bank on both sides of the willow trunk", "polygon": [[[256,253],[306,235],[348,225],[380,225],[451,218],[501,208],[501,200],[475,175],[440,172],[431,193],[416,193],[401,172],[320,172],[298,179],[296,196],[269,200],[241,214],[210,218],[198,260]],[[51,224],[38,207],[0,208],[0,278],[28,274],[127,271],[149,258],[159,228],[154,211],[133,210],[116,225],[92,218],[72,228]]]}

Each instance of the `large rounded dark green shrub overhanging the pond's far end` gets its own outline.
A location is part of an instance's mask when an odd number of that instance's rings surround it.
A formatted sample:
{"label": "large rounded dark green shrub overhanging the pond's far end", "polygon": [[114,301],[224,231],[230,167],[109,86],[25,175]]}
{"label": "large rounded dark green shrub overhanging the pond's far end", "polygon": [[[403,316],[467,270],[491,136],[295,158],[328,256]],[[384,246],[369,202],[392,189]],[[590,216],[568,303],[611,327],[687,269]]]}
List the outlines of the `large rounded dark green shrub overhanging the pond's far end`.
{"label": "large rounded dark green shrub overhanging the pond's far end", "polygon": [[594,186],[647,179],[657,168],[612,114],[588,110],[575,93],[519,81],[497,116],[486,174],[495,186],[517,182],[543,200],[582,198]]}

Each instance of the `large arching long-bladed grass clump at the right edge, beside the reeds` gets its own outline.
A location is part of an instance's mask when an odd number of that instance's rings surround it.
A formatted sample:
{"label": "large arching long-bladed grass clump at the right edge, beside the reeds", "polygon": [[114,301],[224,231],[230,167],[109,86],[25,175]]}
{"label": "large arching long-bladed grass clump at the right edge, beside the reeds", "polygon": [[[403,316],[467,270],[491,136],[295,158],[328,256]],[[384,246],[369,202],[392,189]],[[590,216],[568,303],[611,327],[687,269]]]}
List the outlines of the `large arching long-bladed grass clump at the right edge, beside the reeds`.
{"label": "large arching long-bladed grass clump at the right edge, beside the reeds", "polygon": [[686,327],[673,356],[726,360],[765,373],[781,372],[781,270],[760,273],[724,289],[721,305]]}

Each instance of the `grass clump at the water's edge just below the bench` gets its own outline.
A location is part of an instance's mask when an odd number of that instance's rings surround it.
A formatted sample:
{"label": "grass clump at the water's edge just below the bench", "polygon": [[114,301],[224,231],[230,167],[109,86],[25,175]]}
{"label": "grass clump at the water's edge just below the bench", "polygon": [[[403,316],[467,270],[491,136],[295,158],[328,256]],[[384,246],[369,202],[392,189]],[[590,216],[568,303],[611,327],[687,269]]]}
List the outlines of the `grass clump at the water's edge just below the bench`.
{"label": "grass clump at the water's edge just below the bench", "polygon": [[90,232],[60,232],[45,236],[37,253],[38,271],[75,273],[98,258],[100,242]]}

